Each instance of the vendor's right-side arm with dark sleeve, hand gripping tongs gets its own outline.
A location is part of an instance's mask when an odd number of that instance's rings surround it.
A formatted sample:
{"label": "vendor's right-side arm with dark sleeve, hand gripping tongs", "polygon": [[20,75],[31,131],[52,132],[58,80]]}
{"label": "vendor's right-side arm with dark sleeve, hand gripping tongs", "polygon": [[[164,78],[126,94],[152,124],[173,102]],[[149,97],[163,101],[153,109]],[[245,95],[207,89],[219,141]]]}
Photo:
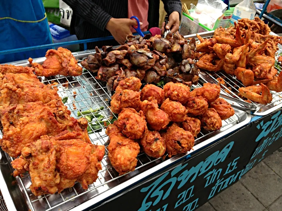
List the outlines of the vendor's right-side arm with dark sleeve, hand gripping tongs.
{"label": "vendor's right-side arm with dark sleeve, hand gripping tongs", "polygon": [[162,24],[162,34],[164,33],[164,27],[168,30],[170,29],[171,33],[176,32],[179,29],[179,21],[181,14],[181,1],[180,0],[162,0],[164,3],[164,10],[169,15],[169,23]]}

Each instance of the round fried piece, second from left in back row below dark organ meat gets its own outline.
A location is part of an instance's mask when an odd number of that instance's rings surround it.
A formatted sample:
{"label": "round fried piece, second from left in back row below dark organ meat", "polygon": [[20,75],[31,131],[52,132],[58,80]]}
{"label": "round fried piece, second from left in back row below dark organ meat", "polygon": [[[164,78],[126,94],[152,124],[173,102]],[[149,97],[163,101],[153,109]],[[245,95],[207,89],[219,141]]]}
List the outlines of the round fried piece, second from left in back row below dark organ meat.
{"label": "round fried piece, second from left in back row below dark organ meat", "polygon": [[160,87],[155,86],[154,84],[147,84],[141,90],[141,101],[148,100],[157,100],[158,104],[162,104],[164,101],[164,90]]}

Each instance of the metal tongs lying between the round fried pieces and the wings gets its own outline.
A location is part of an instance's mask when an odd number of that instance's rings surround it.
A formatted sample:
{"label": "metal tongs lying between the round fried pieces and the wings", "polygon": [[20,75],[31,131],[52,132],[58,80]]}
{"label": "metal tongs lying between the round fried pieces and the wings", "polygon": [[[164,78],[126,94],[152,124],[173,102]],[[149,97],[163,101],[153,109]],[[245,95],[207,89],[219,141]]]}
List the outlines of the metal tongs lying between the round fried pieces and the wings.
{"label": "metal tongs lying between the round fried pieces and the wings", "polygon": [[[199,76],[204,80],[204,81],[207,81],[208,83],[211,83],[211,84],[216,84],[211,78],[209,78],[209,76],[207,76],[207,74],[203,73],[203,72],[199,72]],[[233,102],[236,102],[238,103],[239,105],[241,106],[238,106],[238,105],[234,105],[231,103],[231,107],[233,108],[236,108],[238,110],[243,110],[243,111],[247,111],[247,112],[251,112],[251,113],[254,113],[257,109],[256,105],[254,104],[251,104],[251,103],[247,103],[245,101],[242,101],[242,100],[238,100],[234,97],[231,97],[231,96],[228,96],[228,95],[225,95],[225,94],[222,94],[220,93],[220,96],[222,98],[225,98],[227,100],[230,100],[230,101],[233,101]]]}

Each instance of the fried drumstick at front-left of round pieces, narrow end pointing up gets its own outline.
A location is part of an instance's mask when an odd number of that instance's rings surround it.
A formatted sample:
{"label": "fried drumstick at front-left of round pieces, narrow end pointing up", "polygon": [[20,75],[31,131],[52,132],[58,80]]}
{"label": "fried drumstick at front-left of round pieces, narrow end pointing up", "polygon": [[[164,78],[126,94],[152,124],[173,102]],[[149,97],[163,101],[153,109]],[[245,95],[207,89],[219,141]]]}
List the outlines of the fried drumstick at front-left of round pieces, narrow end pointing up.
{"label": "fried drumstick at front-left of round pieces, narrow end pointing up", "polygon": [[116,125],[109,125],[106,134],[110,138],[108,156],[115,170],[120,175],[134,171],[140,152],[139,144],[125,137]]}

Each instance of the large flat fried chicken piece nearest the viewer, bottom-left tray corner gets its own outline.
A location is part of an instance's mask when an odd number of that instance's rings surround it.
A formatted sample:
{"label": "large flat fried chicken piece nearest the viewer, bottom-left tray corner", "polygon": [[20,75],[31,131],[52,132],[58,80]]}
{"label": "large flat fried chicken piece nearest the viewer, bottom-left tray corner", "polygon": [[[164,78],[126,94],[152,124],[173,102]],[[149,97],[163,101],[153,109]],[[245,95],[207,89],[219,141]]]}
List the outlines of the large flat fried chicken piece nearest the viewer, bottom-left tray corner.
{"label": "large flat fried chicken piece nearest the viewer, bottom-left tray corner", "polygon": [[[98,178],[98,171],[102,169],[99,161],[104,154],[104,146],[84,142],[80,133],[64,131],[26,144],[20,158],[11,164],[16,169],[14,176],[21,169],[29,171],[30,190],[38,196],[60,193],[74,186],[75,181],[80,182],[83,189],[88,189],[88,185]],[[78,162],[80,165],[77,165]]]}

